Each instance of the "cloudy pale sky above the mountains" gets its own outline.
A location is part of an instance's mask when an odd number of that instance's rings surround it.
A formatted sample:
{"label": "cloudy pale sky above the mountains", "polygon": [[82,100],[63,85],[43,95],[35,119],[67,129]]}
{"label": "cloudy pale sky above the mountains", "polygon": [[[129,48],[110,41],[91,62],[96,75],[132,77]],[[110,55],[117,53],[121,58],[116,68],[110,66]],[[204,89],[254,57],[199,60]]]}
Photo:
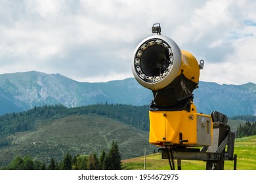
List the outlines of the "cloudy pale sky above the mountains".
{"label": "cloudy pale sky above the mountains", "polygon": [[133,52],[154,23],[204,59],[200,80],[256,84],[255,0],[1,0],[0,74],[133,77]]}

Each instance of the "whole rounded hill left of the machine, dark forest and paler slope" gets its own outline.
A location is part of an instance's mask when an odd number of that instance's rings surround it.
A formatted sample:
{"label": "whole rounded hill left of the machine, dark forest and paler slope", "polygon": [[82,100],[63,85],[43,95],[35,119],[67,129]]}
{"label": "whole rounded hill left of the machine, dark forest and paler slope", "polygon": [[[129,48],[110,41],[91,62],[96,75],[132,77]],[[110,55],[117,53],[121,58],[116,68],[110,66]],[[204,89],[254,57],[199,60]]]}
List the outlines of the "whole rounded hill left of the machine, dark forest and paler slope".
{"label": "whole rounded hill left of the machine, dark forest and paler slope", "polygon": [[131,105],[63,105],[34,107],[0,116],[0,167],[16,156],[39,161],[57,161],[67,152],[99,154],[119,144],[122,158],[142,156],[157,150],[148,143],[148,107]]}

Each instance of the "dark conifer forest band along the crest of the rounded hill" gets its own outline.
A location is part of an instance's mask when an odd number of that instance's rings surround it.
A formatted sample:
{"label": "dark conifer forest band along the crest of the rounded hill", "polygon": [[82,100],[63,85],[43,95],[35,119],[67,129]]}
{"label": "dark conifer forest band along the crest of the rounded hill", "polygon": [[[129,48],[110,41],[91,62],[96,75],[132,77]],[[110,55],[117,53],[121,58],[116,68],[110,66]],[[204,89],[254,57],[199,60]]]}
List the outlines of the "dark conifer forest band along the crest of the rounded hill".
{"label": "dark conifer forest band along the crest of the rounded hill", "polygon": [[67,108],[64,105],[45,105],[31,110],[0,116],[0,146],[5,144],[5,137],[18,131],[29,131],[35,128],[40,120],[56,120],[75,114],[98,114],[133,125],[142,131],[148,131],[148,106],[132,105],[89,105]]}

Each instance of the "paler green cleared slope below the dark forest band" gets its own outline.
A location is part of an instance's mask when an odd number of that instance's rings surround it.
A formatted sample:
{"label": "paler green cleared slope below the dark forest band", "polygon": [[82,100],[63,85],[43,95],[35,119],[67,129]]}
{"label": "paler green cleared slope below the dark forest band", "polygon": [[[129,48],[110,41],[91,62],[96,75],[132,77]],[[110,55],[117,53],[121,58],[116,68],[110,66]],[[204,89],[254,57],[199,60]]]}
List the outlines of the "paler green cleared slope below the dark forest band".
{"label": "paler green cleared slope below the dark forest band", "polygon": [[33,131],[8,137],[12,145],[0,148],[0,167],[16,156],[49,162],[51,157],[62,159],[67,152],[74,156],[93,152],[100,155],[110,148],[112,141],[117,142],[123,159],[142,156],[144,146],[147,154],[155,148],[148,144],[148,133],[96,114],[71,115],[38,124]]}

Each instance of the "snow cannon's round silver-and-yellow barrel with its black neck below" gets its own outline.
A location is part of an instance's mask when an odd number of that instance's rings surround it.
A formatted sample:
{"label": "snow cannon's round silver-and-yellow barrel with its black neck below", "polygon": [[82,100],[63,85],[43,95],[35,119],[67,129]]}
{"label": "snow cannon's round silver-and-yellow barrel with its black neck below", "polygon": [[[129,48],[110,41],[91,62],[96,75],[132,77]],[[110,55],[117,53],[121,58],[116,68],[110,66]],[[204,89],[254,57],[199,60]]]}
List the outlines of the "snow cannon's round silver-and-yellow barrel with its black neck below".
{"label": "snow cannon's round silver-and-yellow barrel with its black neck below", "polygon": [[198,87],[200,65],[171,38],[155,34],[135,49],[132,71],[140,85],[152,90],[152,106],[184,108]]}

